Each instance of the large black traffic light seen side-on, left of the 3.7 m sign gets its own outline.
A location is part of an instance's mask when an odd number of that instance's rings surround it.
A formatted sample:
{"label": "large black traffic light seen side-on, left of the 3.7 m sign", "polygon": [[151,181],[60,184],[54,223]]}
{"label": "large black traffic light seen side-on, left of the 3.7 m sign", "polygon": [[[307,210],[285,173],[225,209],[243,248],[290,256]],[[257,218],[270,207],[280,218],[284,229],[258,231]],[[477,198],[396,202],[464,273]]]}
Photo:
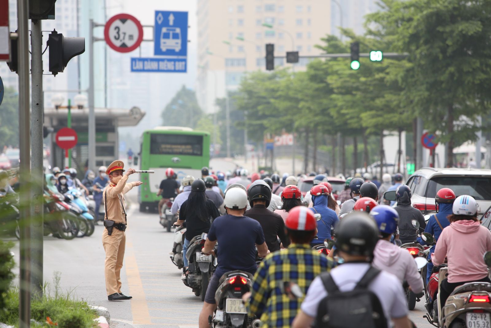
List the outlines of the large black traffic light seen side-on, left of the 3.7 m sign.
{"label": "large black traffic light seen side-on, left of the 3.7 m sign", "polygon": [[63,72],[68,61],[85,52],[85,38],[63,37],[63,34],[53,30],[48,38],[48,46],[50,47],[50,72],[56,75]]}

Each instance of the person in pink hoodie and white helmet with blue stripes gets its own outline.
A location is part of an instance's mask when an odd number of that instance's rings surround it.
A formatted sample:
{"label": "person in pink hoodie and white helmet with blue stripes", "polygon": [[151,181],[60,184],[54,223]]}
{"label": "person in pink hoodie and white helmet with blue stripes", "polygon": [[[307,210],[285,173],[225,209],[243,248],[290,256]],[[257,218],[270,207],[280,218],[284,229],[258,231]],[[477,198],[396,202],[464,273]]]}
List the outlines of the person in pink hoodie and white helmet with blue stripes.
{"label": "person in pink hoodie and white helmet with blue stripes", "polygon": [[[460,285],[468,282],[489,282],[484,254],[491,251],[491,234],[477,218],[477,203],[468,195],[455,199],[450,225],[443,229],[436,242],[432,262],[435,267],[447,257],[448,277],[440,282],[440,305]],[[470,248],[469,248],[470,247]]]}

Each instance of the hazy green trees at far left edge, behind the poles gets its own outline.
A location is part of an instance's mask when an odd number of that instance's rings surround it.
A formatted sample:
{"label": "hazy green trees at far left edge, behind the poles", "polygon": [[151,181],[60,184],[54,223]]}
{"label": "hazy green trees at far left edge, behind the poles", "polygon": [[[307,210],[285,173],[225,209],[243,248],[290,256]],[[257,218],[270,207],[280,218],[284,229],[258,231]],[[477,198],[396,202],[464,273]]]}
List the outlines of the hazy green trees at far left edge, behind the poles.
{"label": "hazy green trees at far left edge, behind the poles", "polygon": [[19,147],[19,94],[6,88],[0,105],[0,147]]}

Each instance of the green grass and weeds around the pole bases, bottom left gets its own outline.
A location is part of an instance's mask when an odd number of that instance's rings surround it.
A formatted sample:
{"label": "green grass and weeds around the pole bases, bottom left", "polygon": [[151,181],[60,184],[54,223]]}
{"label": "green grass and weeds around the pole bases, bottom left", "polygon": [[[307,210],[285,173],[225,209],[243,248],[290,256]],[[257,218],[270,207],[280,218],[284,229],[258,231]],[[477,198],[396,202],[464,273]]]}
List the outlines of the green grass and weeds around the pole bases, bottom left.
{"label": "green grass and weeds around the pole bases, bottom left", "polygon": [[[83,299],[74,299],[71,296],[73,290],[63,293],[59,288],[59,281],[60,273],[55,272],[54,295],[51,293],[50,284],[45,283],[43,297],[31,301],[31,319],[37,322],[31,323],[31,327],[54,327],[54,324],[57,324],[58,328],[97,327],[94,323],[94,319],[97,318],[96,311]],[[0,322],[19,327],[19,288],[10,288],[5,296],[5,308],[0,311]],[[46,322],[47,317],[53,324]]]}

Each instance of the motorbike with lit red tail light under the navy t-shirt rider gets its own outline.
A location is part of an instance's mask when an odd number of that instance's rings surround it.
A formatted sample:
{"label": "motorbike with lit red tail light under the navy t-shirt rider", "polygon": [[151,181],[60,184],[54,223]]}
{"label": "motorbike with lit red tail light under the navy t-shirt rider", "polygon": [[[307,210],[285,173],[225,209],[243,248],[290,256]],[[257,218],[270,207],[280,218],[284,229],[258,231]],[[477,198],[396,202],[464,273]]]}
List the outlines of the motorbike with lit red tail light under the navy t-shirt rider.
{"label": "motorbike with lit red tail light under the navy t-shirt rider", "polygon": [[247,316],[242,296],[252,289],[252,274],[240,270],[226,272],[218,281],[217,309],[208,319],[213,327],[261,327],[258,319]]}

